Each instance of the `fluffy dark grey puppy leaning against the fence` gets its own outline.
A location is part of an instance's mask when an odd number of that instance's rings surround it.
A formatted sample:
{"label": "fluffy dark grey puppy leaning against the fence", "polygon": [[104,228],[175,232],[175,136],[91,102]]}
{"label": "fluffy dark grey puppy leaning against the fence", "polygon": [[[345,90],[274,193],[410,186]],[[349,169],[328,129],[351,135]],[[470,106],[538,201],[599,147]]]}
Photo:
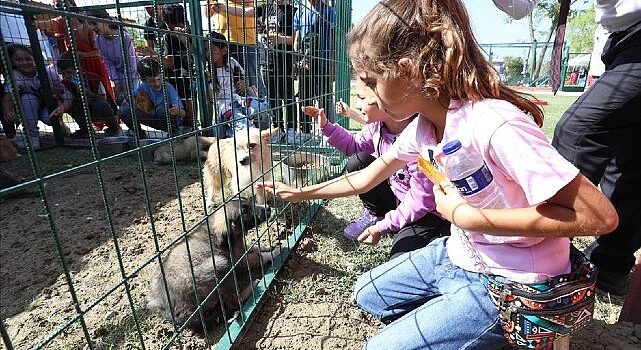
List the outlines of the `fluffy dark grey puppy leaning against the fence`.
{"label": "fluffy dark grey puppy leaning against the fence", "polygon": [[[238,310],[239,305],[249,297],[254,287],[251,276],[256,275],[253,273],[259,271],[261,264],[270,264],[272,257],[280,255],[280,248],[261,251],[256,246],[251,247],[250,252],[242,258],[243,261],[236,265],[233,273],[225,279],[222,278],[246,250],[243,243],[245,234],[243,228],[251,229],[256,224],[264,222],[268,216],[269,208],[255,206],[247,199],[233,200],[225,205],[224,210],[222,207],[219,208],[209,218],[211,235],[208,235],[207,226],[203,223],[186,239],[189,243],[191,266],[184,242],[173,247],[163,259],[167,292],[160,270],[157,270],[151,280],[147,296],[149,309],[169,321],[172,320],[171,310],[173,309],[178,326],[187,322],[198,306],[192,281],[193,266],[193,280],[195,280],[198,300],[201,303],[216,285],[220,284],[220,287],[217,289],[218,292],[212,294],[203,304],[201,313],[189,320],[187,323],[189,328],[201,332],[203,322],[210,329],[210,325],[220,320],[222,316],[220,300],[224,303],[227,315]],[[236,289],[234,281],[238,283],[239,290]],[[167,293],[171,300],[171,308]],[[237,293],[240,295],[240,300]],[[201,315],[203,320],[200,318]]]}

